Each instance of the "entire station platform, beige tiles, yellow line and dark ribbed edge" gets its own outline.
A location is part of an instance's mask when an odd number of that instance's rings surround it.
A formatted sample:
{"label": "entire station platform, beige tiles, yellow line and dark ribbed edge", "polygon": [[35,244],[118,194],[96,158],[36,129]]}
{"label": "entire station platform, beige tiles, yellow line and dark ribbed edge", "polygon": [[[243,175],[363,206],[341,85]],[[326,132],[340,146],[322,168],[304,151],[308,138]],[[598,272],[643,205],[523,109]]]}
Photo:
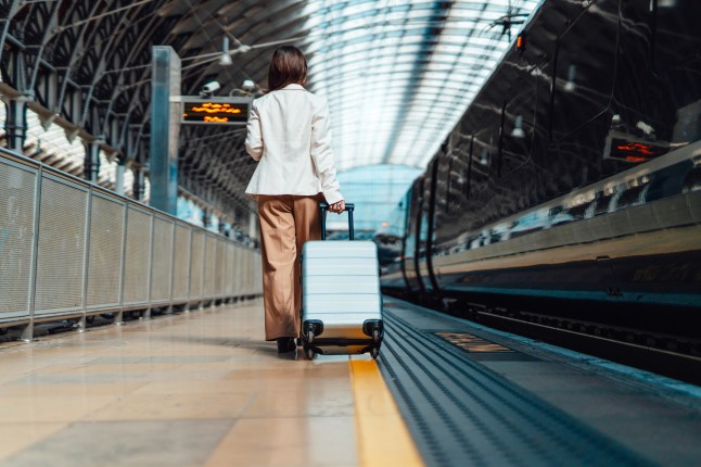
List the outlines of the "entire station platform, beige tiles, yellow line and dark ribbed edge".
{"label": "entire station platform, beige tiles, yellow line and dark ribbed edge", "polygon": [[699,465],[701,390],[385,300],[368,355],[260,301],[0,348],[2,466]]}

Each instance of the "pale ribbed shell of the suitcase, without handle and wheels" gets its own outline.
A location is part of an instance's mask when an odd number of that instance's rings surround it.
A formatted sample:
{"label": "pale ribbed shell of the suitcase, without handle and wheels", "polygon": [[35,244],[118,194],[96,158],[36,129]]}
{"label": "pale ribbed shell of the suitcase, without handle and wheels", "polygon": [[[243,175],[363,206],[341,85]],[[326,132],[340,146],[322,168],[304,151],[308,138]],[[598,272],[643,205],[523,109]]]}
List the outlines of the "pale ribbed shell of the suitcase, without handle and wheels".
{"label": "pale ribbed shell of the suitcase, without handle and wheels", "polygon": [[[323,341],[372,342],[364,333],[362,325],[368,319],[382,319],[378,249],[374,242],[308,241],[302,250],[302,277],[303,327],[307,320],[320,320],[323,332],[319,339]],[[364,348],[349,345],[336,351],[356,353]],[[335,352],[324,346],[323,353]]]}

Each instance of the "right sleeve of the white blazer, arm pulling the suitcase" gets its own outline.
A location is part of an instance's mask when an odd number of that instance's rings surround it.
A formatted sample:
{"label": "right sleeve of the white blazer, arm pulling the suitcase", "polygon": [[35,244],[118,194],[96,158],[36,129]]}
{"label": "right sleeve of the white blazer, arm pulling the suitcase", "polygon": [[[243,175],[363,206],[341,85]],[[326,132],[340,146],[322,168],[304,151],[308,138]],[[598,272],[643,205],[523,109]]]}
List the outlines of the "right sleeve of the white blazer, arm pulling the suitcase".
{"label": "right sleeve of the white blazer, arm pulling the suitcase", "polygon": [[331,151],[329,105],[326,100],[311,121],[311,159],[321,181],[321,191],[327,203],[333,204],[342,201],[343,195],[336,179],[336,168],[333,163],[333,152]]}

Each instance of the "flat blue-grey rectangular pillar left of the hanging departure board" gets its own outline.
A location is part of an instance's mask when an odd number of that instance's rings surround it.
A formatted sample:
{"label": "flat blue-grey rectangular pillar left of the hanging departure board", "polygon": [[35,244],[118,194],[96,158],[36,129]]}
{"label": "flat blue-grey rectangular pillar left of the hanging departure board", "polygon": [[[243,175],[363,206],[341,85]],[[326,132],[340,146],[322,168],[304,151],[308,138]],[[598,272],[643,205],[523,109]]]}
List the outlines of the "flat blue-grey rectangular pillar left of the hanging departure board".
{"label": "flat blue-grey rectangular pillar left of the hanging departure board", "polygon": [[180,58],[169,46],[152,49],[150,179],[151,205],[177,215]]}

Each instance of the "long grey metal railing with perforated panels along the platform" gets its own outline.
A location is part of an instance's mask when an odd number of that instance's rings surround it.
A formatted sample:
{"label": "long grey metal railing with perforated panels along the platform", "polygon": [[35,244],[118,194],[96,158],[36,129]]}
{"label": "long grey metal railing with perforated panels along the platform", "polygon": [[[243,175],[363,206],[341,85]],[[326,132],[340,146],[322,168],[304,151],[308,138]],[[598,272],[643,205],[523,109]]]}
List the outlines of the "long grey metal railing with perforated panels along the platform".
{"label": "long grey metal railing with perforated panels along the platform", "polygon": [[0,149],[0,327],[259,295],[259,252]]}

